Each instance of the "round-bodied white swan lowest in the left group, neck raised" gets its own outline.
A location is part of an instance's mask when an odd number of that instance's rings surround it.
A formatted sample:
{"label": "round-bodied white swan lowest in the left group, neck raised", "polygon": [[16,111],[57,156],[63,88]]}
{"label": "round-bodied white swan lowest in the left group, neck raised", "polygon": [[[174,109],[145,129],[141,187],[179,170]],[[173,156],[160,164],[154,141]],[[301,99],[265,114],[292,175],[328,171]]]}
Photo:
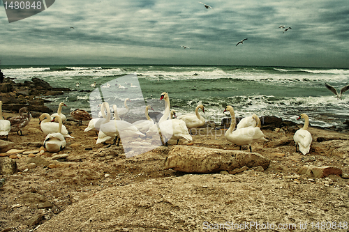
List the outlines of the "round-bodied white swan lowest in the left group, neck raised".
{"label": "round-bodied white swan lowest in the left group, neck raised", "polygon": [[66,147],[66,139],[61,134],[62,119],[59,115],[54,116],[54,121],[59,121],[58,132],[47,134],[44,146],[50,153],[58,153],[59,150],[63,150]]}

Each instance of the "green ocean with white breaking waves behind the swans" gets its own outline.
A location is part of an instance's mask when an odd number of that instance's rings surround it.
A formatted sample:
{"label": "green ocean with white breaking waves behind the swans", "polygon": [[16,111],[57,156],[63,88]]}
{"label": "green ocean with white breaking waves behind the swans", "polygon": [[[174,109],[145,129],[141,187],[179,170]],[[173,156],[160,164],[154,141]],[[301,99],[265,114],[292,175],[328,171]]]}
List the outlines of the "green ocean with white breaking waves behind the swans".
{"label": "green ocean with white breaking waves behind the swans", "polygon": [[[159,101],[168,92],[177,116],[193,114],[199,104],[205,106],[207,120],[221,123],[225,105],[232,105],[236,116],[278,116],[295,121],[302,113],[313,126],[344,128],[349,115],[349,91],[343,100],[325,88],[325,82],[337,91],[349,84],[349,70],[336,68],[286,68],[219,65],[1,65],[6,77],[24,82],[38,77],[53,87],[72,89],[64,95],[48,96],[47,107],[57,111],[65,102],[64,114],[76,108],[96,116],[97,105],[124,107],[130,114],[144,114],[144,105],[163,111]],[[96,87],[90,85],[96,82]],[[79,86],[76,86],[76,84]],[[107,88],[107,83],[110,88]],[[131,88],[131,83],[133,87]],[[125,88],[119,88],[119,84]],[[91,92],[88,92],[91,91]],[[92,103],[93,102],[93,103]],[[299,122],[297,122],[299,123]]]}

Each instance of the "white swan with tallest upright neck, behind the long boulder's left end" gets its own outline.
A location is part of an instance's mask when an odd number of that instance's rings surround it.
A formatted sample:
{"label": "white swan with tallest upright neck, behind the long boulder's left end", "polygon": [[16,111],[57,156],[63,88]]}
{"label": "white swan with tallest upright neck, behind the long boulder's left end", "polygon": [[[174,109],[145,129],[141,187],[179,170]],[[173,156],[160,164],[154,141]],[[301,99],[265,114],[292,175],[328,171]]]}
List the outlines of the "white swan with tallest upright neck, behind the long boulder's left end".
{"label": "white swan with tallest upright neck, behind the long boulder's left end", "polygon": [[177,144],[179,143],[179,139],[193,141],[193,137],[188,133],[188,127],[186,127],[184,121],[179,119],[164,120],[164,118],[168,118],[170,114],[170,98],[168,97],[168,93],[161,93],[160,100],[162,99],[165,100],[165,113],[158,123],[158,128],[161,132],[161,137],[163,137],[165,146],[168,146],[168,140],[170,139],[177,140]]}

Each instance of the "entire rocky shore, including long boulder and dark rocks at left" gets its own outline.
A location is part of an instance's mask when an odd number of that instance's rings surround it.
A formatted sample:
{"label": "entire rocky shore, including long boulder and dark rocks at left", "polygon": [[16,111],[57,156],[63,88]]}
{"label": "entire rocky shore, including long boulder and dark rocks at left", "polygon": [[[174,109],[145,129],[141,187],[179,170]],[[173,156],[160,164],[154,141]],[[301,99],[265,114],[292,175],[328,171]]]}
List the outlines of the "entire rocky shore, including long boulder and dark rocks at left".
{"label": "entire rocky shore, including long boulder and dark rocks at left", "polygon": [[[35,100],[42,108],[30,110],[41,114],[49,109],[40,95],[62,91],[6,80],[3,116]],[[348,230],[349,135],[309,127],[313,143],[302,155],[293,141],[302,125],[262,119],[268,141],[253,144],[253,153],[225,139],[225,119],[189,144],[170,141],[126,158],[122,144],[96,145],[96,133],[75,121],[64,123],[74,139],[49,153],[34,116],[23,136],[0,138],[0,231],[281,231],[267,224],[318,231],[322,222]]]}

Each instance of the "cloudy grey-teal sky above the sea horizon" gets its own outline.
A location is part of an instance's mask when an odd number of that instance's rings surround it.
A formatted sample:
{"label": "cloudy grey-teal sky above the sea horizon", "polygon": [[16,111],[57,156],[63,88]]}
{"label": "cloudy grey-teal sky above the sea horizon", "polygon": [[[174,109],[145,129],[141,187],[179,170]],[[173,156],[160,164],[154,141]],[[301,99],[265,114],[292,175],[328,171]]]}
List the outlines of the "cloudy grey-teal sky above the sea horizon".
{"label": "cloudy grey-teal sky above the sea horizon", "polygon": [[214,9],[195,0],[57,0],[11,23],[3,1],[3,65],[349,68],[348,0],[205,0]]}

